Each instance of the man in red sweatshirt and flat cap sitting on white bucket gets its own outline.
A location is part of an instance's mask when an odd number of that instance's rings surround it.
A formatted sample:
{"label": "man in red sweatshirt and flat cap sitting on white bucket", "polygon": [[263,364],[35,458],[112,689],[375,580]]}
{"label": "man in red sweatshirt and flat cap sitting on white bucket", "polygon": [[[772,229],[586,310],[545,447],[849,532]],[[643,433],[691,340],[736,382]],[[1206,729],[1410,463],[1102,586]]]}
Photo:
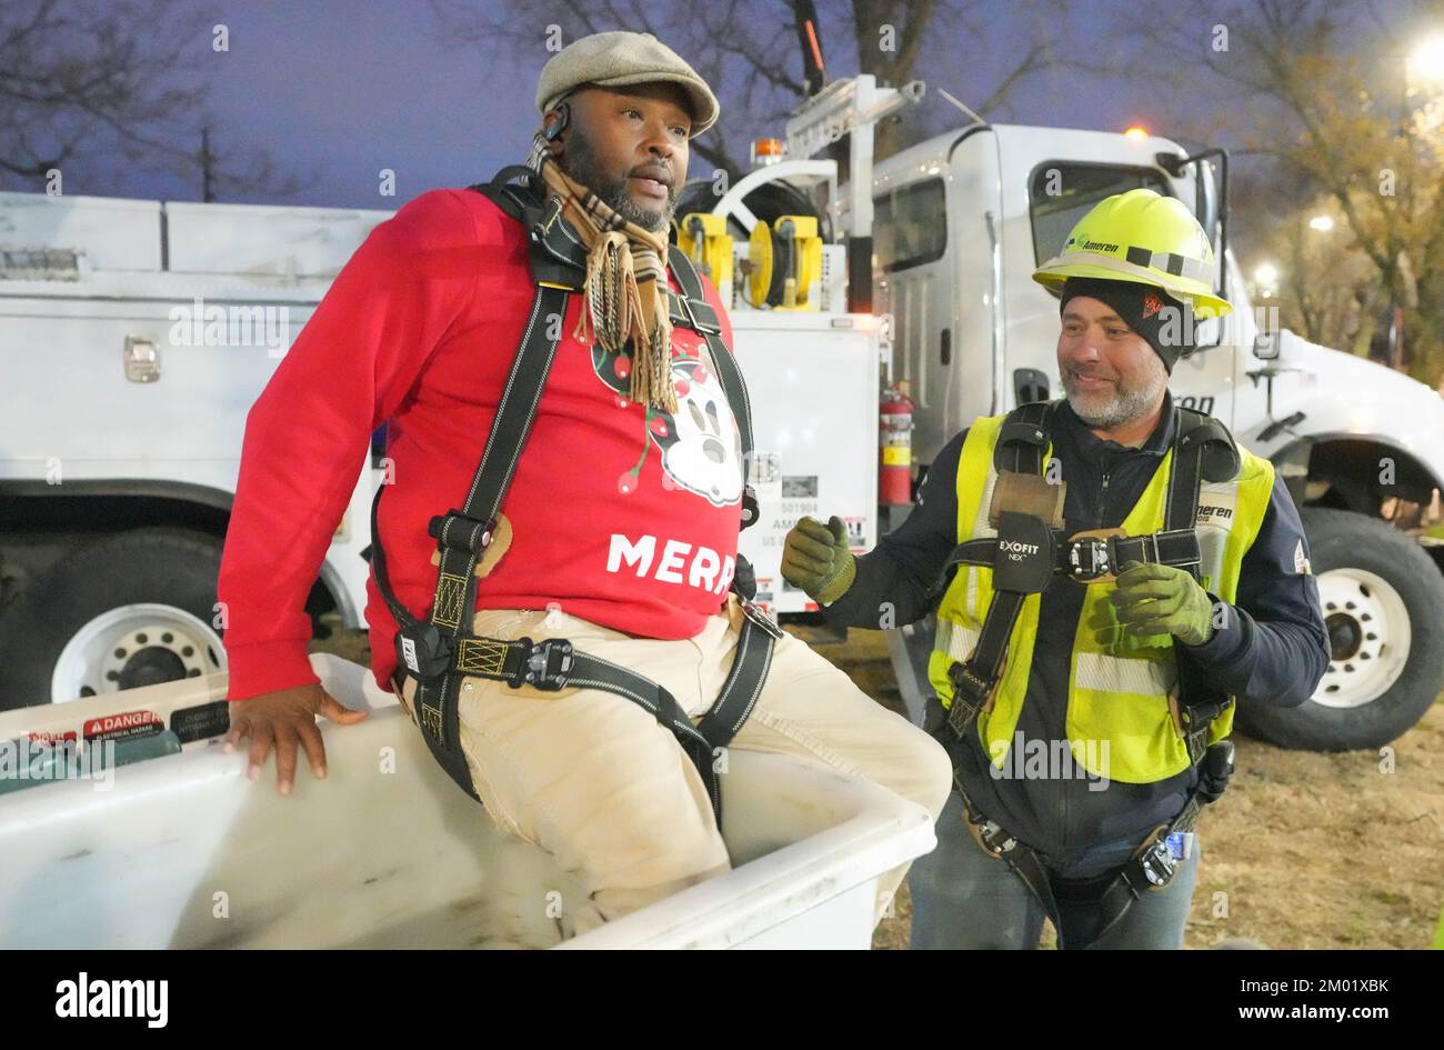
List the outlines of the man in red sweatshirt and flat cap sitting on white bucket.
{"label": "man in red sweatshirt and flat cap sitting on white bucket", "polygon": [[[656,38],[598,33],[546,65],[537,107],[553,134],[534,139],[529,163],[570,198],[562,221],[588,250],[591,295],[566,298],[498,519],[508,534],[478,569],[472,630],[567,638],[664,686],[696,719],[736,651],[728,588],[744,469],[708,345],[667,324],[654,277],[667,273],[689,139],[716,120],[718,103]],[[591,217],[604,217],[605,233]],[[426,523],[468,491],[534,290],[518,221],[472,189],[423,194],[355,251],[251,409],[218,591],[234,702],[227,747],[250,738],[253,780],[273,748],[282,793],[297,748],[323,777],[316,715],[364,718],[322,692],[303,607],[371,432],[388,425],[394,468],[375,539],[397,598],[425,617],[438,586]],[[716,289],[703,290],[731,345]],[[397,624],[374,575],[365,614],[375,679],[410,711],[414,679],[394,677]],[[559,934],[728,868],[697,768],[640,706],[598,689],[469,676],[459,696],[459,742],[488,813],[589,893]],[[729,747],[826,763],[934,819],[950,789],[934,741],[791,635],[775,643]],[[904,872],[884,880],[879,904]]]}

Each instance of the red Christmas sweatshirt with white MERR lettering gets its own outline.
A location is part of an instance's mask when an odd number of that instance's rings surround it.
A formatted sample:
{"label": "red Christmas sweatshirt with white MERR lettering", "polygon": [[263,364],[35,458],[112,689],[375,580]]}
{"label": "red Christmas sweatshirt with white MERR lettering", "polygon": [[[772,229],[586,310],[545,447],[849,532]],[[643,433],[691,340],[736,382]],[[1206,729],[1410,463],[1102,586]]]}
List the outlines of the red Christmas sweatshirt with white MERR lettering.
{"label": "red Christmas sweatshirt with white MERR lettering", "polygon": [[[731,345],[722,302],[703,286]],[[247,416],[218,582],[228,699],[318,680],[306,595],[383,422],[394,468],[380,514],[387,569],[406,608],[426,615],[436,588],[426,526],[465,501],[533,290],[526,231],[472,189],[423,194],[357,248]],[[579,309],[567,296],[503,504],[513,544],[479,581],[477,608],[554,602],[628,634],[692,637],[735,569],[736,422],[695,332],[673,332],[669,416],[625,399],[628,358],[572,337]],[[367,596],[386,689],[396,622],[374,576]]]}

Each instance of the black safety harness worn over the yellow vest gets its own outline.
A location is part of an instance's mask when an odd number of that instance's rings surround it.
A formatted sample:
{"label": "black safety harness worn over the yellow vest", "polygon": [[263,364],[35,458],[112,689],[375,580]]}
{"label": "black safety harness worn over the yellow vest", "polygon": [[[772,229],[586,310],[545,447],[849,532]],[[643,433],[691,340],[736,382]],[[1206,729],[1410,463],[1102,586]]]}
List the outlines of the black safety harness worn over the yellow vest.
{"label": "black safety harness worn over the yellow vest", "polygon": [[[1008,641],[1030,594],[1047,591],[1057,576],[1080,583],[1115,579],[1125,562],[1171,565],[1200,579],[1201,550],[1194,530],[1203,481],[1227,481],[1238,474],[1239,454],[1227,429],[1212,416],[1175,406],[1173,467],[1164,504],[1164,529],[1147,536],[1126,536],[1122,529],[1097,529],[1063,536],[1066,482],[1043,477],[1043,458],[1051,443],[1058,402],[1038,402],[1014,409],[1004,419],[993,446],[996,481],[988,519],[996,536],[959,543],[947,557],[943,588],[960,565],[992,569],[993,598],[983,615],[978,643],[966,660],[953,661],[947,676],[953,700],[947,725],[959,739],[978,718],[991,711],[1002,679]],[[1115,874],[1083,887],[1096,900],[1099,924],[1089,943],[1110,930],[1144,891],[1167,885],[1178,861],[1168,848],[1174,833],[1193,830],[1199,812],[1223,794],[1233,770],[1233,744],[1209,745],[1209,726],[1232,702],[1225,695],[1180,696],[1171,700],[1188,758],[1199,768],[1199,784],[1183,812],[1170,825],[1155,828],[1138,852]],[[954,776],[954,780],[959,780]],[[962,790],[967,822],[979,843],[1009,868],[1043,904],[1063,943],[1053,884],[1041,858],[1017,836],[973,806]],[[1079,887],[1073,887],[1076,891]],[[1087,945],[1082,945],[1086,947]]]}

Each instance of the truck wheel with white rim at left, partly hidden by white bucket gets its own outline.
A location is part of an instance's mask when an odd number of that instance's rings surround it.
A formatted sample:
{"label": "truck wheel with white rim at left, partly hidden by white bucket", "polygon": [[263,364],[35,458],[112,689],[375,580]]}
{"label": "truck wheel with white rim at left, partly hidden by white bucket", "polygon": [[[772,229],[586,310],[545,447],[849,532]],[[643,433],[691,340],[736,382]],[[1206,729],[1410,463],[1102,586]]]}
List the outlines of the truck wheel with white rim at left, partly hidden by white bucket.
{"label": "truck wheel with white rim at left, partly hidden by white bucket", "polygon": [[225,670],[215,617],[221,540],[137,529],[81,547],[0,620],[0,711]]}

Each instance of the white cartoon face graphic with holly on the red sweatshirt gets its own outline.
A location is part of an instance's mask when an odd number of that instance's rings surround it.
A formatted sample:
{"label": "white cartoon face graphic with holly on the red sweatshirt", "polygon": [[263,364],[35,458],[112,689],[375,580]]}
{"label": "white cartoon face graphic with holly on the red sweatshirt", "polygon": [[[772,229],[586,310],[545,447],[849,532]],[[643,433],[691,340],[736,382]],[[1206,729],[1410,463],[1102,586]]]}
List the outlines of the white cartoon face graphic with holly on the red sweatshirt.
{"label": "white cartoon face graphic with holly on the red sweatshirt", "polygon": [[[677,391],[677,412],[645,409],[641,455],[617,480],[622,495],[637,491],[641,468],[656,446],[661,454],[663,488],[696,493],[713,507],[742,498],[742,433],[721,381],[703,357],[703,345],[693,351],[673,347],[671,381]],[[618,407],[632,404],[627,399],[631,364],[630,355],[609,354],[592,344],[592,368],[617,396]]]}

